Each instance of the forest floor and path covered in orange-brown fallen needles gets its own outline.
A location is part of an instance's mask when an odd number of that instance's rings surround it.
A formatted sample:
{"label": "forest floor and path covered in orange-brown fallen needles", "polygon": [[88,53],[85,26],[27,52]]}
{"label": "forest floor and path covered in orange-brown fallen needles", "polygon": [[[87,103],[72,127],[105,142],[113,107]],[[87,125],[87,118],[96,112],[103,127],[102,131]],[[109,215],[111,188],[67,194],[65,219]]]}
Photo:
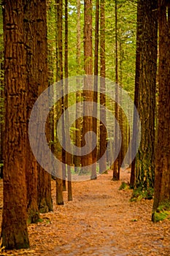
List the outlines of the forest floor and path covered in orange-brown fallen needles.
{"label": "forest floor and path covered in orange-brown fallen needles", "polygon": [[[169,256],[169,220],[151,222],[152,200],[130,202],[132,191],[119,190],[129,177],[130,172],[122,170],[120,181],[112,181],[109,171],[96,181],[74,182],[73,201],[63,192],[64,206],[55,204],[52,181],[54,211],[28,225],[30,249],[0,255]],[[2,208],[2,195],[0,200]]]}

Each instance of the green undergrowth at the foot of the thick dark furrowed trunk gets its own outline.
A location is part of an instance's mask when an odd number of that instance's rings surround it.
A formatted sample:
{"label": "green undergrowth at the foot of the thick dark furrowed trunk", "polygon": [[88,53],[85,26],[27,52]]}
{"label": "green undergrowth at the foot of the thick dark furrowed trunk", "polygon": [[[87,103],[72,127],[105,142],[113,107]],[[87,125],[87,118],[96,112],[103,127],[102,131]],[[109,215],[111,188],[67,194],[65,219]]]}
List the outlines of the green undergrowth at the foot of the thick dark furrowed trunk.
{"label": "green undergrowth at the foot of the thick dark furrowed trunk", "polygon": [[136,202],[142,199],[150,200],[153,197],[153,189],[147,188],[144,189],[142,187],[138,187],[137,189],[134,189],[132,196],[131,196],[131,202]]}

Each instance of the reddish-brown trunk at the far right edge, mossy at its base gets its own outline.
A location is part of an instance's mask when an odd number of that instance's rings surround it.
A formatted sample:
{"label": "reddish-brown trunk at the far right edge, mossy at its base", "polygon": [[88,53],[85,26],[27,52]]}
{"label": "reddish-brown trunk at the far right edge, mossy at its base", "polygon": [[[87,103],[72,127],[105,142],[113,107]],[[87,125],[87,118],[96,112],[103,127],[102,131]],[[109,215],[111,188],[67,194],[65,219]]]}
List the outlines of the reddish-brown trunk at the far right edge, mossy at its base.
{"label": "reddish-brown trunk at the far right edge, mossy at its base", "polygon": [[170,4],[158,1],[159,68],[158,68],[158,148],[155,157],[155,189],[152,221],[158,206],[170,206]]}

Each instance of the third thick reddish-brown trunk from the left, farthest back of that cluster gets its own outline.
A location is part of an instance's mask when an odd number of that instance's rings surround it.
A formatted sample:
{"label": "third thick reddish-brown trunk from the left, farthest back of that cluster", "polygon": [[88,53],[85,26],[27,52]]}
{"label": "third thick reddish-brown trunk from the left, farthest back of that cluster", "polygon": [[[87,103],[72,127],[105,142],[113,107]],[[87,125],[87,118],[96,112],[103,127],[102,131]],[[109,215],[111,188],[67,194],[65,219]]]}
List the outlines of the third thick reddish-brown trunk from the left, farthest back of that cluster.
{"label": "third thick reddish-brown trunk from the left, farthest back of that cluster", "polygon": [[[39,10],[36,12],[37,26],[37,84],[39,86],[38,94],[47,89],[47,4],[46,0],[39,0]],[[50,129],[47,130],[47,138],[50,138]],[[47,173],[40,165],[37,165],[38,172],[38,207],[42,213],[53,211],[51,197],[51,175]]]}

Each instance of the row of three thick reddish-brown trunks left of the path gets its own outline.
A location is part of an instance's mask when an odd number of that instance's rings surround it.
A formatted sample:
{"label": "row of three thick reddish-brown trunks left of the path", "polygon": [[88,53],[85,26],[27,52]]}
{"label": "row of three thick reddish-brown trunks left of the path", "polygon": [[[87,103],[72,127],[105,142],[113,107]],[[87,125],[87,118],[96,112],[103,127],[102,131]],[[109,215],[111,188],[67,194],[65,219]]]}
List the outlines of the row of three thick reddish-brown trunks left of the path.
{"label": "row of three thick reddish-brown trunks left of the path", "polygon": [[50,174],[37,164],[28,120],[47,88],[46,1],[4,1],[4,208],[2,244],[29,246],[27,221],[53,210]]}

